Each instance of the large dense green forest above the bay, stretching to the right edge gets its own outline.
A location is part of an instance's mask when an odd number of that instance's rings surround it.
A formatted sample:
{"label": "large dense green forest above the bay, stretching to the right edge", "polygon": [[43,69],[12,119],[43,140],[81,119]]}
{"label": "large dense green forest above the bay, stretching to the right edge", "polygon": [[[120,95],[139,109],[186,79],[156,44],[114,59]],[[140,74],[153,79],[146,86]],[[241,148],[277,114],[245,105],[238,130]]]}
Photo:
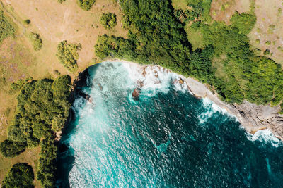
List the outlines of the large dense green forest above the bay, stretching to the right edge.
{"label": "large dense green forest above the bay, stretching to the right edge", "polygon": [[[187,0],[187,4],[190,10],[183,11],[174,10],[167,0],[121,0],[128,38],[100,36],[96,55],[158,64],[190,75],[210,84],[231,104],[241,104],[244,99],[255,104],[282,104],[281,65],[258,56],[247,37],[256,21],[254,5],[248,13],[234,13],[231,25],[226,25],[210,18],[211,0]],[[185,23],[201,33],[203,48],[193,50]]]}

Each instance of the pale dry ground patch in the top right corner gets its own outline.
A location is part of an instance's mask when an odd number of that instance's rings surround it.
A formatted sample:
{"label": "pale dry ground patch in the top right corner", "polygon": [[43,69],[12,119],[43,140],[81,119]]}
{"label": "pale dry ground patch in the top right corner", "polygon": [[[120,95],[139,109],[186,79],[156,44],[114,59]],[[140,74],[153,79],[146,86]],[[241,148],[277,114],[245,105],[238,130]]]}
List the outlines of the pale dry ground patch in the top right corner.
{"label": "pale dry ground patch in the top right corner", "polygon": [[[250,32],[250,43],[262,52],[270,50],[270,55],[283,66],[283,1],[255,1],[257,22]],[[263,53],[260,53],[262,55]]]}

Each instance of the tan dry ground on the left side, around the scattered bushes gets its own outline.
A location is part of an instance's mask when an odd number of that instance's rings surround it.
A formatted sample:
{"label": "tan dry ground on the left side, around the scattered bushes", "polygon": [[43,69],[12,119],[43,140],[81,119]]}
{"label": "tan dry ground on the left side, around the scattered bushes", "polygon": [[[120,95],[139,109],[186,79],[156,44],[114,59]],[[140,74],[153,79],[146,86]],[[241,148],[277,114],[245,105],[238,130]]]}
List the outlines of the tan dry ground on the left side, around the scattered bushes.
{"label": "tan dry ground on the left side, around the scattered bushes", "polygon": [[[59,63],[57,45],[62,40],[80,43],[79,71],[93,64],[94,45],[98,35],[108,34],[127,36],[122,28],[122,12],[115,1],[96,0],[90,11],[83,11],[76,0],[67,0],[58,4],[56,0],[3,0],[4,13],[17,27],[15,37],[9,37],[0,44],[0,142],[6,139],[6,129],[16,110],[16,95],[8,94],[12,82],[31,76],[34,79],[56,77],[54,70],[69,74],[74,78],[77,73],[69,73]],[[112,30],[100,26],[102,13],[115,13],[117,25]],[[30,25],[23,20],[29,19]],[[30,32],[36,32],[42,38],[40,51],[34,51],[28,39]],[[14,163],[26,162],[37,169],[40,148],[27,149],[16,158],[7,159],[0,155],[0,182]],[[40,187],[35,180],[35,187]]]}

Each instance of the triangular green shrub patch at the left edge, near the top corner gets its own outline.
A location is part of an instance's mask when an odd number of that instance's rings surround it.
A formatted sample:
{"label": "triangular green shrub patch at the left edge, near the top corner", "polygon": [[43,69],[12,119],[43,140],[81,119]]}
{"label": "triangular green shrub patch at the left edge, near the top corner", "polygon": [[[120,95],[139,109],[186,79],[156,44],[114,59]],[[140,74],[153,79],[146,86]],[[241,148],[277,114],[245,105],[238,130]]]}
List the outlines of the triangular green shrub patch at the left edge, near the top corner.
{"label": "triangular green shrub patch at the left edge, near the top corner", "polygon": [[0,11],[0,42],[15,34],[15,28],[5,18],[3,11]]}

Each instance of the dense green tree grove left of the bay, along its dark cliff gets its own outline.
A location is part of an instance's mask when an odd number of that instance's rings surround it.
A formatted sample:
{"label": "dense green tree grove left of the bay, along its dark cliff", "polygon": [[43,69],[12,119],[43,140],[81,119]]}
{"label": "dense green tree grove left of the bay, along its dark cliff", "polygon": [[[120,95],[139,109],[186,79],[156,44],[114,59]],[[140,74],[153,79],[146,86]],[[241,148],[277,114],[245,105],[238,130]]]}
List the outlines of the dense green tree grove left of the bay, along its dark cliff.
{"label": "dense green tree grove left of the bay, along its dark cliff", "polygon": [[16,115],[8,127],[8,139],[0,144],[8,158],[17,156],[26,147],[40,144],[37,180],[42,187],[54,187],[57,145],[55,132],[62,130],[69,116],[71,77],[26,82],[18,94]]}

